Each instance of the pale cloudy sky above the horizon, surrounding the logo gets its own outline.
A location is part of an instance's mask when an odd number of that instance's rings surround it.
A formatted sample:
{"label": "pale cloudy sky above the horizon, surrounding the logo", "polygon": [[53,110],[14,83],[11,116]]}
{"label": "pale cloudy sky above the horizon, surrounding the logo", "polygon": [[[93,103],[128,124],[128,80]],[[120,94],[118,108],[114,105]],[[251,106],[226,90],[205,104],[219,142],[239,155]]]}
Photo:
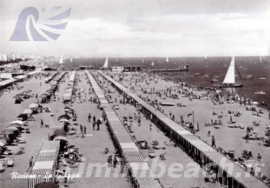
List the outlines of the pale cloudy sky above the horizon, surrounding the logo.
{"label": "pale cloudy sky above the horizon, surrounding the logo", "polygon": [[[57,40],[10,41],[20,13]],[[52,11],[53,7],[61,7]],[[62,30],[49,17],[71,8]],[[46,22],[47,21],[47,22]],[[270,0],[0,0],[0,54],[87,57],[269,55]]]}

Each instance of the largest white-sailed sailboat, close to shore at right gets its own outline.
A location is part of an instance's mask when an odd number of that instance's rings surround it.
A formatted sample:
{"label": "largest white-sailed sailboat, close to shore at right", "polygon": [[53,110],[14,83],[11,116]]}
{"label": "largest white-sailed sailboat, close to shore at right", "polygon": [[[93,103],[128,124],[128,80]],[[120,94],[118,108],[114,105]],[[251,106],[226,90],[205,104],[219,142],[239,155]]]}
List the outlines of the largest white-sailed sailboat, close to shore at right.
{"label": "largest white-sailed sailboat, close to shore at right", "polygon": [[[239,77],[240,77],[240,82],[238,82],[238,83],[236,83],[236,80],[235,80],[236,74],[238,74]],[[235,57],[233,57],[232,60],[231,60],[230,66],[229,66],[229,68],[227,70],[227,73],[226,73],[226,76],[225,76],[225,78],[223,80],[222,85],[224,87],[243,87],[240,72],[237,69],[237,67],[235,66]]]}

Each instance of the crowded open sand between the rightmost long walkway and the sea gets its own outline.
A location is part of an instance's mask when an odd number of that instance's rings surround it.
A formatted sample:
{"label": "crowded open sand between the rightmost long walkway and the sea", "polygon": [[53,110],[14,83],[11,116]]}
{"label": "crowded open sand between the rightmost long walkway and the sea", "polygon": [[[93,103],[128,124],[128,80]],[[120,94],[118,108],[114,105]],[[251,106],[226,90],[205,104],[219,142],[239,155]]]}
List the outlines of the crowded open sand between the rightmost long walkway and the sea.
{"label": "crowded open sand between the rightmost long walkway and the sea", "polygon": [[[262,162],[264,163],[264,167],[262,167],[261,172],[265,174],[267,177],[270,175],[270,159],[269,159],[269,149],[263,146],[262,141],[259,140],[250,140],[246,143],[242,137],[245,135],[246,127],[251,126],[253,121],[260,121],[260,126],[253,126],[254,131],[258,133],[260,137],[264,136],[266,125],[269,124],[268,112],[265,109],[263,110],[263,114],[260,117],[252,115],[251,111],[247,111],[244,106],[240,106],[239,103],[232,103],[232,104],[223,104],[223,105],[214,105],[211,100],[196,100],[193,99],[192,101],[189,98],[184,97],[183,95],[179,94],[179,99],[172,99],[166,97],[165,99],[161,99],[160,97],[156,96],[155,94],[145,94],[141,90],[141,87],[136,87],[134,80],[136,78],[141,78],[142,74],[137,73],[139,76],[132,77],[131,74],[125,74],[123,85],[126,86],[128,89],[135,88],[134,93],[138,96],[141,95],[143,97],[149,97],[152,100],[157,99],[158,102],[166,102],[166,103],[173,103],[175,106],[168,106],[162,107],[165,114],[169,116],[169,113],[175,115],[175,121],[180,122],[180,116],[182,115],[185,121],[192,122],[192,116],[188,117],[188,114],[194,111],[194,122],[195,125],[199,123],[200,131],[196,133],[197,136],[200,136],[202,140],[206,141],[211,145],[211,137],[214,135],[216,139],[217,147],[221,147],[224,150],[234,150],[235,157],[241,157],[241,153],[244,149],[251,150],[253,153],[253,159],[256,161],[257,154],[260,153],[262,155]],[[123,74],[122,74],[123,76]],[[118,79],[117,75],[114,75],[114,78]],[[138,85],[141,85],[143,88],[155,88],[155,90],[159,89],[166,89],[170,86],[175,86],[174,83],[169,81],[164,81],[158,79],[158,81],[148,81],[149,84],[139,82]],[[194,91],[196,93],[206,93],[205,91]],[[186,105],[186,107],[177,107],[177,103],[182,103]],[[239,128],[229,128],[228,121],[230,120],[230,114],[228,111],[240,111],[242,115],[240,117],[232,118],[236,121],[236,125],[243,125],[244,129]],[[213,111],[217,112],[217,114],[221,114],[223,111],[223,117],[221,118],[223,125],[220,126],[219,129],[215,129],[214,126],[205,126],[205,123],[210,123],[211,119],[218,119],[217,115],[213,116]],[[179,125],[180,126],[180,125]],[[211,131],[211,136],[208,137],[207,133]]]}

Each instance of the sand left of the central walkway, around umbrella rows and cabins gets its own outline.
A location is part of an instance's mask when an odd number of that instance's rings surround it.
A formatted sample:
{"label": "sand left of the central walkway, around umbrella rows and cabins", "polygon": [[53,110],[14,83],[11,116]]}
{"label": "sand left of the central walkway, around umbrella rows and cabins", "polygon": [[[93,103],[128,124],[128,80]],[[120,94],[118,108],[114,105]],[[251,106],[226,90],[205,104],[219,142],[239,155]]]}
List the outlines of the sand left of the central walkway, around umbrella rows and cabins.
{"label": "sand left of the central walkway, around umbrella rows and cabins", "polygon": [[[82,78],[82,83],[80,83],[81,87],[85,87],[85,89],[89,88],[89,84],[86,83],[84,79],[84,73],[80,73]],[[36,80],[35,78],[31,78],[28,81],[19,83],[19,85],[24,86],[22,90],[13,90],[10,93],[5,93],[0,98],[1,107],[5,106],[5,108],[0,109],[1,113],[1,129],[3,130],[8,124],[16,120],[16,117],[29,106],[29,104],[35,101],[34,98],[30,98],[25,100],[22,104],[14,104],[14,99],[12,98],[15,94],[20,93],[22,91],[31,89],[34,93],[41,94],[45,90],[47,90],[50,86],[49,84],[45,84],[46,78],[42,78],[41,80]],[[56,92],[56,96],[60,97],[60,101],[50,102],[48,104],[44,104],[44,106],[48,106],[51,108],[54,117],[51,117],[50,113],[40,113],[34,115],[35,121],[29,122],[30,134],[22,134],[21,139],[26,140],[26,144],[20,144],[18,146],[8,146],[9,149],[13,153],[16,153],[19,150],[19,147],[25,147],[25,153],[22,155],[14,155],[15,165],[14,167],[6,168],[4,173],[1,173],[0,176],[0,187],[1,188],[25,188],[27,187],[27,180],[25,179],[11,179],[11,173],[18,172],[20,174],[27,173],[27,169],[29,168],[29,160],[31,156],[37,156],[38,149],[40,148],[43,140],[48,140],[49,129],[40,127],[40,120],[44,121],[44,124],[55,125],[57,124],[57,118],[64,113],[64,104],[61,102],[62,96],[64,94],[64,89],[67,86],[67,76],[65,77],[65,82],[60,83],[59,92]],[[40,82],[42,82],[42,86],[40,86]],[[79,124],[87,126],[87,134],[84,138],[80,137],[80,134],[76,134],[68,137],[68,141],[70,144],[75,145],[79,148],[80,153],[83,154],[83,158],[85,158],[85,162],[83,163],[86,167],[83,169],[83,177],[73,180],[68,180],[69,187],[129,187],[126,179],[124,177],[114,178],[114,177],[85,177],[87,173],[87,165],[88,163],[102,163],[106,164],[107,155],[103,155],[104,148],[107,147],[111,151],[112,154],[114,152],[114,147],[112,141],[109,137],[109,133],[107,128],[102,124],[100,131],[93,131],[92,125],[87,120],[87,115],[90,112],[92,115],[96,115],[97,117],[101,116],[101,112],[97,110],[96,104],[90,102],[84,103],[76,103],[73,105],[73,109],[76,111]],[[76,127],[76,126],[73,126]],[[78,126],[76,127],[78,130]],[[78,131],[79,132],[79,131]],[[91,134],[93,136],[91,136]],[[83,166],[83,165],[81,165]],[[116,168],[116,170],[118,170]],[[71,169],[71,173],[77,174],[78,168]],[[63,186],[63,183],[60,181],[60,185]]]}

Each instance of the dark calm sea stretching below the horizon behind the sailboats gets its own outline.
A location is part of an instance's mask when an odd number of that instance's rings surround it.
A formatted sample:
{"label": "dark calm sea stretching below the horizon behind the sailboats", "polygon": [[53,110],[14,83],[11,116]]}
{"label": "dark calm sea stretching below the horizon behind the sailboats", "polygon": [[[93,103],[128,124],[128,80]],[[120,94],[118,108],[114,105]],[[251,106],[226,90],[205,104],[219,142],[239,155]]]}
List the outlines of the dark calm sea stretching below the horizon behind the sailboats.
{"label": "dark calm sea stretching below the horizon behind the sailboats", "polygon": [[[213,86],[212,79],[221,84],[231,57],[170,57],[169,62],[164,58],[109,58],[109,66],[141,66],[144,69],[178,68],[189,65],[189,72],[168,73],[172,79],[187,81],[194,85]],[[99,68],[104,64],[105,58],[86,58],[64,60],[65,68],[78,66],[94,66]],[[151,65],[154,62],[153,66]],[[270,104],[270,57],[236,57],[236,66],[241,74],[244,87],[237,88],[236,92],[255,101],[264,101]],[[254,94],[257,91],[266,92],[265,95]]]}

